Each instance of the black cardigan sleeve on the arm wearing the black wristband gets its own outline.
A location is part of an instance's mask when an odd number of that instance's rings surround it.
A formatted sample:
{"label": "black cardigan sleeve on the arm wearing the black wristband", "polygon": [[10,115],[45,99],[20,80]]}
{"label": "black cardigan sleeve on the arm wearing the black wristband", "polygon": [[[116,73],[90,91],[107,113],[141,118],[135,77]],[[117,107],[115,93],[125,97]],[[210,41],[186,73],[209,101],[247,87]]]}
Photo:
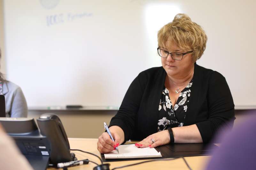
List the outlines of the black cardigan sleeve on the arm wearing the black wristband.
{"label": "black cardigan sleeve on the arm wearing the black wristband", "polygon": [[204,143],[209,142],[221,125],[235,120],[234,102],[226,79],[218,72],[211,74],[207,92],[208,119],[196,123]]}

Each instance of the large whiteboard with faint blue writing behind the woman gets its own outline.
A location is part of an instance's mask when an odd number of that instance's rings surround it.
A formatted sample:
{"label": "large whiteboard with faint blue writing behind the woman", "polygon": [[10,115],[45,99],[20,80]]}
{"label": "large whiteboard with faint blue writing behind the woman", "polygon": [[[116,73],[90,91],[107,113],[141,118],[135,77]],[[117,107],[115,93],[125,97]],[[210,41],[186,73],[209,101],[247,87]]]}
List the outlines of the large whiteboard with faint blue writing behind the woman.
{"label": "large whiteboard with faint blue writing behind the woman", "polygon": [[198,64],[256,105],[256,1],[5,0],[7,79],[28,106],[120,106],[139,72],[161,66],[157,31],[186,13],[208,36]]}

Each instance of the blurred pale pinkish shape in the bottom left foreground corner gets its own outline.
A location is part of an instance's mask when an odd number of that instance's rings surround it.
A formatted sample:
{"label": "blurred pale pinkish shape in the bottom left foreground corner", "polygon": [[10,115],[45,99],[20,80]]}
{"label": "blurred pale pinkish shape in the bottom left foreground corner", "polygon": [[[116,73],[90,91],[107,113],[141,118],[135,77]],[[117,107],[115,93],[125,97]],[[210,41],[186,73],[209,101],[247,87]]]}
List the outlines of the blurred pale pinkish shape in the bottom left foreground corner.
{"label": "blurred pale pinkish shape in the bottom left foreground corner", "polygon": [[10,138],[0,124],[0,169],[26,169],[33,168],[28,163],[27,159],[21,154],[12,138]]}

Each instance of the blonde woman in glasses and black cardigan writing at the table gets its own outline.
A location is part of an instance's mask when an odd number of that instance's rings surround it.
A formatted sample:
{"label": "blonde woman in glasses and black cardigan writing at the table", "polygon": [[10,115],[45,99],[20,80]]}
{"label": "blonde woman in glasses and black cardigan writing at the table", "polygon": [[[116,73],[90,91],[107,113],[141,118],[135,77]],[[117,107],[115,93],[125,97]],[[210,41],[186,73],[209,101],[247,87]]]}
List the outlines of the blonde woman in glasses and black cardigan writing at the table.
{"label": "blonde woman in glasses and black cardigan writing at the table", "polygon": [[98,150],[108,153],[129,139],[137,147],[168,143],[206,143],[217,129],[234,121],[234,103],[225,78],[198,66],[207,36],[185,14],[158,32],[162,67],[141,72],[131,83],[110,131],[104,132]]}

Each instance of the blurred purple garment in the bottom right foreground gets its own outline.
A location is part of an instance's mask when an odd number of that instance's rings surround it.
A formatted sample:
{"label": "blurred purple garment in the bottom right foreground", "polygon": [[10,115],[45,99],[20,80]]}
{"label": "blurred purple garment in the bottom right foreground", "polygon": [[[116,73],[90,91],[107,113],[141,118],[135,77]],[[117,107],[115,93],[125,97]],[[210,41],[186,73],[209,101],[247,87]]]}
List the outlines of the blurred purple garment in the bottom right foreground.
{"label": "blurred purple garment in the bottom right foreground", "polygon": [[207,170],[256,169],[256,111],[232,130],[221,133],[221,145],[213,151]]}

